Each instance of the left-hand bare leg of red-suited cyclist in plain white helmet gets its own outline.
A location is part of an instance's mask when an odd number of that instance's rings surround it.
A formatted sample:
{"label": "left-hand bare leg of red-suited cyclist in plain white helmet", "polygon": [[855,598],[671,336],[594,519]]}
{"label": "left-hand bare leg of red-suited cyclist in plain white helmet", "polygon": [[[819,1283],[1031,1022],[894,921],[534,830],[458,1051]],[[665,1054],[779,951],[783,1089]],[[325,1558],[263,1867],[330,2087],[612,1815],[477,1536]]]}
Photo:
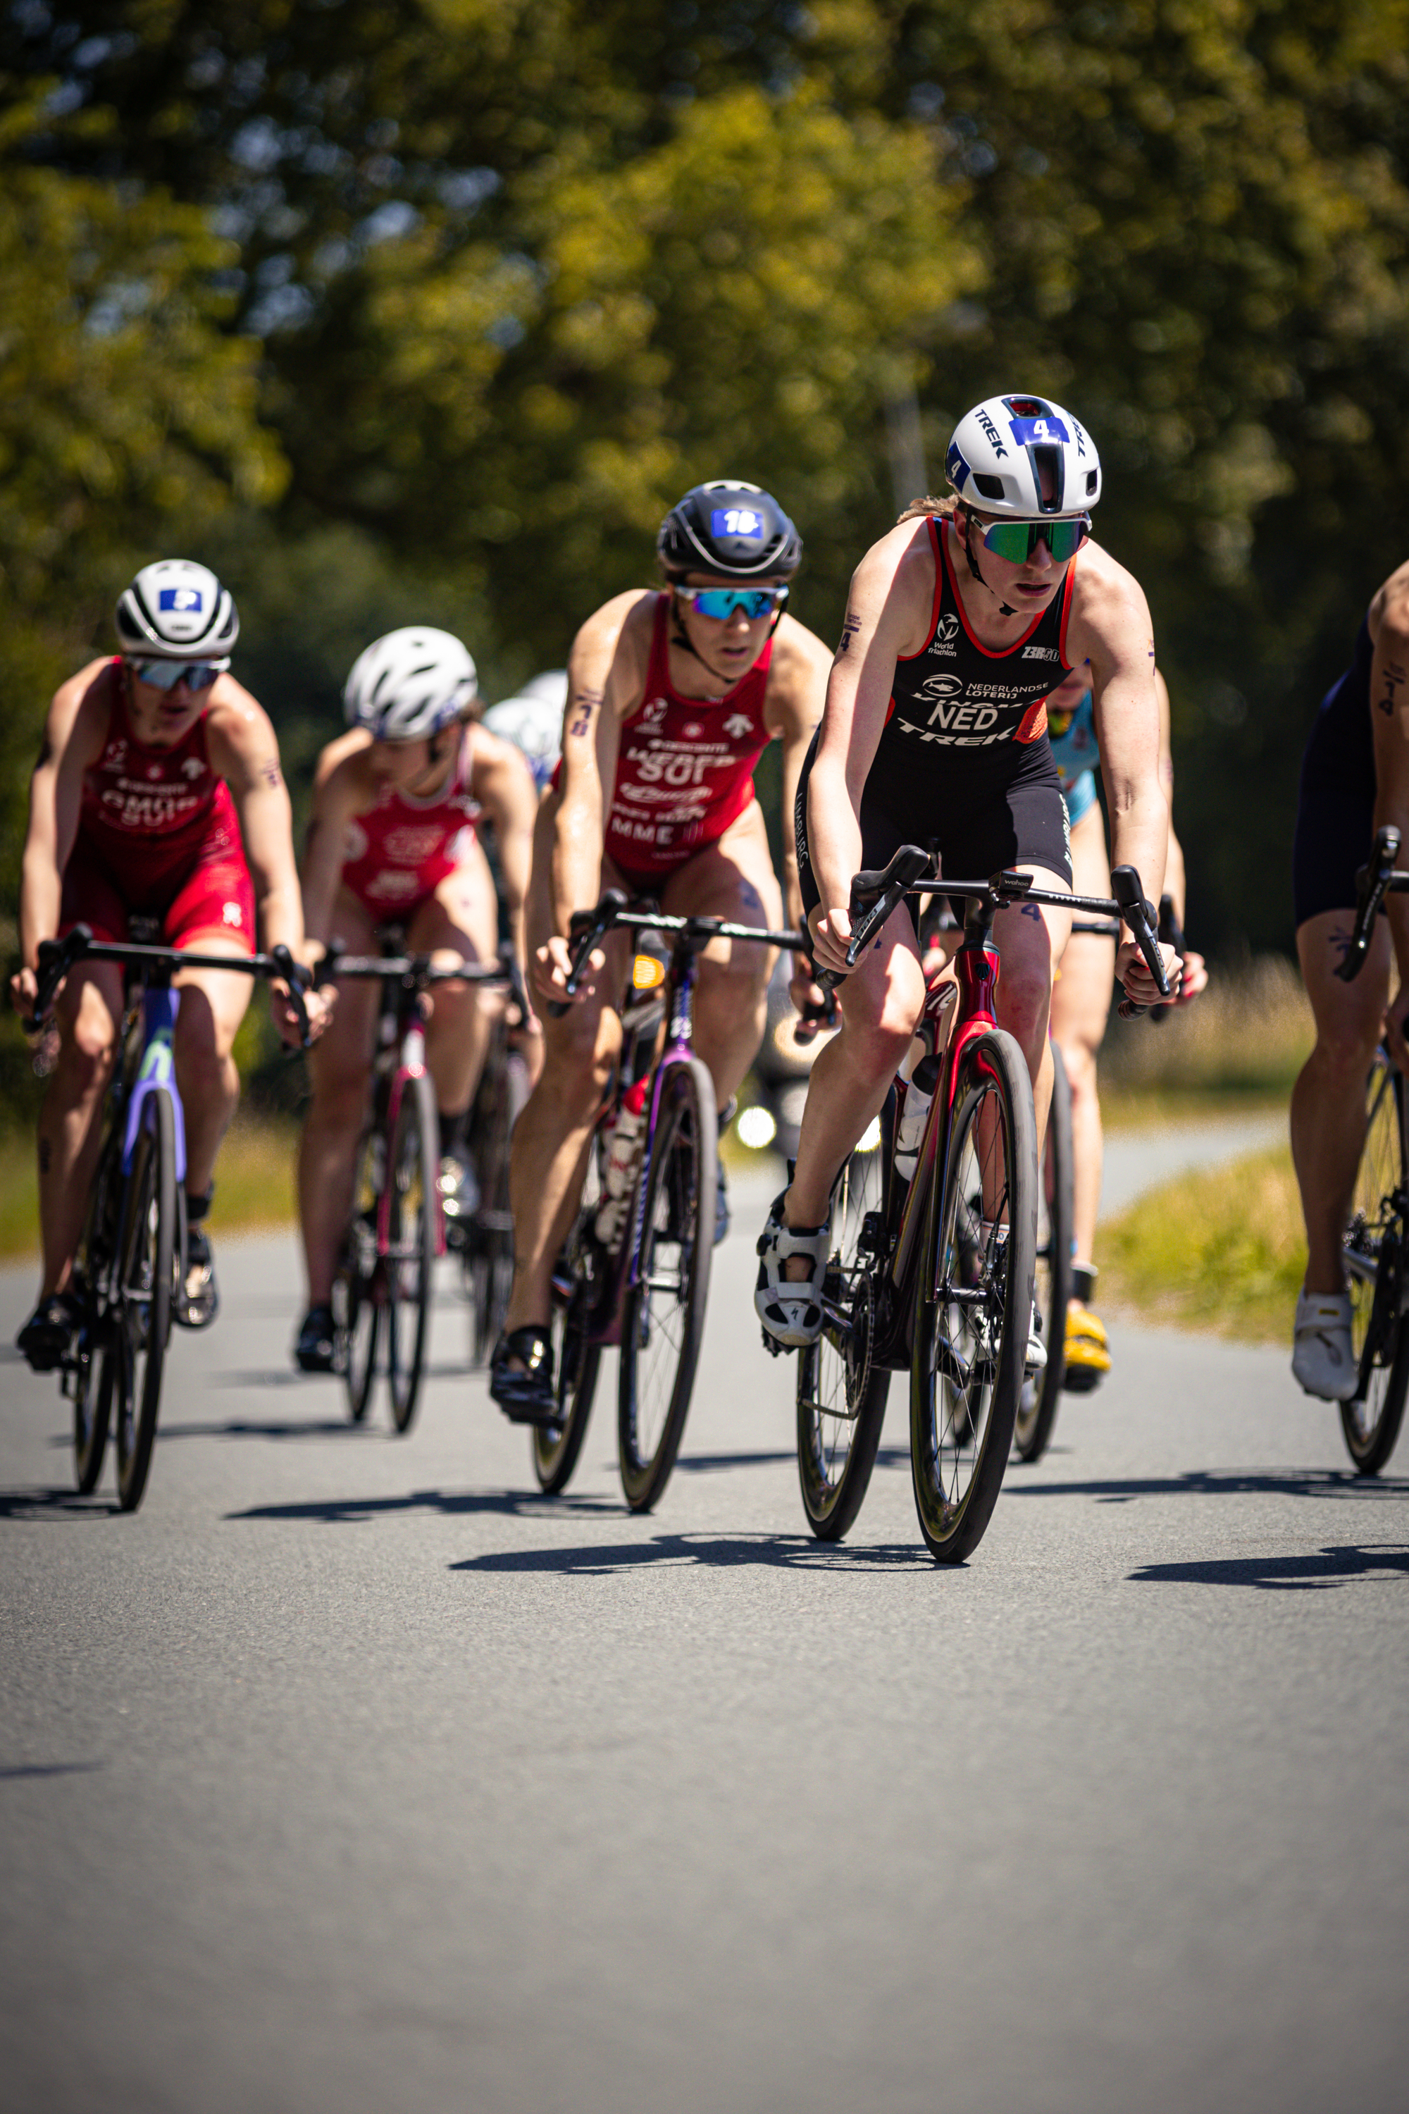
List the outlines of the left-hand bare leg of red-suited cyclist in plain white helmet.
{"label": "left-hand bare leg of red-suited cyclist in plain white helmet", "polygon": [[[357,896],[338,890],[332,930],[346,953],[376,953],[376,926]],[[298,1142],[298,1218],[304,1235],[308,1304],[332,1300],[338,1254],[353,1216],[357,1139],[368,1120],[380,985],[338,985],[327,1030],[308,1051],[313,1101]]]}

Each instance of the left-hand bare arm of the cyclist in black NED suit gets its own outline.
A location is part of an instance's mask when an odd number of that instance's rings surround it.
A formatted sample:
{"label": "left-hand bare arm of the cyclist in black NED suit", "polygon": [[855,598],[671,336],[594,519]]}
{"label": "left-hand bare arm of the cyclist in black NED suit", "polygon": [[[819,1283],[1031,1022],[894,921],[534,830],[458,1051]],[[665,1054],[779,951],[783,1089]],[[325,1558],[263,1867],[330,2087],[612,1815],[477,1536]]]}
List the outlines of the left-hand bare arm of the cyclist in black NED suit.
{"label": "left-hand bare arm of the cyclist in black NED suit", "polygon": [[929,537],[923,522],[904,522],[872,543],[851,575],[807,786],[807,852],[822,894],[813,939],[822,968],[845,970],[851,875],[862,863],[862,789],[885,727],[896,660],[921,645],[932,605]]}

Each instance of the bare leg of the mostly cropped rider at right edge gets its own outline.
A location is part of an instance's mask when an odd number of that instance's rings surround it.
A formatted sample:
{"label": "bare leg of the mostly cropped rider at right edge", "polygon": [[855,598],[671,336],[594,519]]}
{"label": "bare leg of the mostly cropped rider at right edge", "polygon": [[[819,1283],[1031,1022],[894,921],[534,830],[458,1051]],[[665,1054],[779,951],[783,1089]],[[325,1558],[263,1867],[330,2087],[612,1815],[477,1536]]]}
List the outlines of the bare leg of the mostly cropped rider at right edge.
{"label": "bare leg of the mostly cropped rider at right edge", "polygon": [[1305,1218],[1305,1290],[1344,1292],[1341,1237],[1365,1144],[1365,1078],[1390,998],[1390,930],[1375,922],[1354,983],[1335,977],[1352,913],[1322,911],[1297,928],[1297,956],[1316,1019],[1316,1046],[1291,1091],[1291,1154]]}

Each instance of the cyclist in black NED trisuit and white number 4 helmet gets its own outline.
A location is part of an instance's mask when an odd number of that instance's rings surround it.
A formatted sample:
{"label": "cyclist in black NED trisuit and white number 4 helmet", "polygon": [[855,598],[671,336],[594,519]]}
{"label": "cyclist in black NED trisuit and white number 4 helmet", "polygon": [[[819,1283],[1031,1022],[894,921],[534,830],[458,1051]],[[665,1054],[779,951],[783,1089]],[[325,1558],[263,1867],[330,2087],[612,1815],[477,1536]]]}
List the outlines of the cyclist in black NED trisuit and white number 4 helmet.
{"label": "cyclist in black NED trisuit and white number 4 helmet", "polygon": [[[796,801],[799,873],[820,968],[845,972],[851,875],[934,841],[972,879],[1018,867],[1071,888],[1067,810],[1044,700],[1090,662],[1111,805],[1111,856],[1160,896],[1168,803],[1160,789],[1153,636],[1139,583],[1090,543],[1101,459],[1058,404],[1006,395],[955,427],[953,499],[917,501],[862,558],[826,715]],[[1079,556],[1077,556],[1079,554]],[[1037,1137],[1052,1093],[1048,1006],[1069,913],[1001,911],[997,1017],[1033,1076]],[[1170,981],[1179,966],[1166,949]],[[1158,996],[1126,932],[1115,975]],[[754,1304],[775,1342],[815,1342],[837,1169],[879,1112],[925,998],[902,905],[843,985],[843,1030],[811,1074],[792,1186],[758,1243]],[[1029,1370],[1046,1361],[1033,1325]]]}

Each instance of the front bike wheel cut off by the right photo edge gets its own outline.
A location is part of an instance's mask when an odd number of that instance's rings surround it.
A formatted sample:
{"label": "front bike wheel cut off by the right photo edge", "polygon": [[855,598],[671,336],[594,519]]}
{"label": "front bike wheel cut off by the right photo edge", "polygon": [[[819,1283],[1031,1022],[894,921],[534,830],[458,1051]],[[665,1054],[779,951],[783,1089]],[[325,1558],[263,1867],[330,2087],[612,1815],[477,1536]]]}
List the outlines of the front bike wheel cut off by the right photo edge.
{"label": "front bike wheel cut off by the right photo edge", "polygon": [[1394,1452],[1409,1393],[1409,1190],[1405,1078],[1384,1051],[1365,1087],[1365,1146],[1344,1256],[1350,1283],[1350,1340],[1360,1366],[1352,1402],[1341,1402],[1341,1431],[1360,1476],[1377,1476]]}

